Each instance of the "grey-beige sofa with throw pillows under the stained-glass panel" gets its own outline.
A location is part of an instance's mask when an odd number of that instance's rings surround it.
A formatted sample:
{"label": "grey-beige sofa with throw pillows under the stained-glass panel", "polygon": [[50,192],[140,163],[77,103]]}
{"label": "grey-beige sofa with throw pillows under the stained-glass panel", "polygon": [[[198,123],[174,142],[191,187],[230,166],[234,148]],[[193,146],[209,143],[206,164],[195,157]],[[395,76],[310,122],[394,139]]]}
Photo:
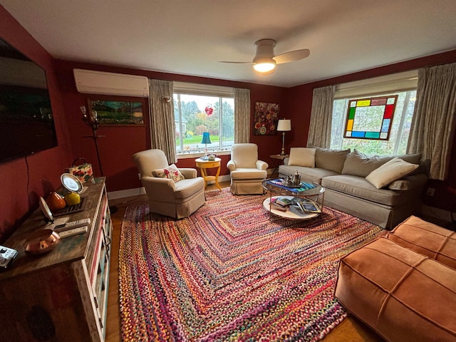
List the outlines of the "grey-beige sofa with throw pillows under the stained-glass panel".
{"label": "grey-beige sofa with throw pillows under the stained-glass panel", "polygon": [[[302,180],[321,184],[326,189],[324,204],[328,207],[386,229],[395,227],[420,211],[421,193],[427,181],[425,167],[420,165],[420,154],[368,156],[357,150],[330,150],[311,145],[295,148],[296,150],[291,148],[290,157],[284,160],[284,165],[279,166],[279,177],[293,175],[298,171]],[[294,153],[302,150],[306,150],[307,155]],[[309,157],[312,150],[313,162]],[[391,162],[402,162],[407,167],[410,163],[415,165],[412,167],[415,170],[390,181],[389,175],[392,172],[388,165]],[[386,178],[386,185],[380,182],[378,187],[375,178],[379,175],[380,178]]]}

